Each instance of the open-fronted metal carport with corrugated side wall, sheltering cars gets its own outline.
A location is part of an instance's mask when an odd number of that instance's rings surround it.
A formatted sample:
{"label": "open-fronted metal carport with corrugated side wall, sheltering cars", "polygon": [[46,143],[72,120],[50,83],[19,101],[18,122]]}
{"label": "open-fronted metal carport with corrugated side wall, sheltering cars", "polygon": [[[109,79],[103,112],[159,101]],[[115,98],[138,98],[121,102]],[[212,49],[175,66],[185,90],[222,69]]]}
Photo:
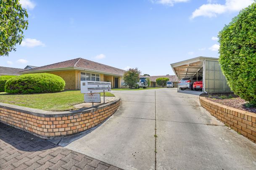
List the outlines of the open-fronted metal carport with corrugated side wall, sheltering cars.
{"label": "open-fronted metal carport with corrugated side wall, sheltering cars", "polygon": [[230,92],[219,65],[219,58],[197,57],[173,63],[171,66],[179,81],[184,77],[202,76],[203,92]]}

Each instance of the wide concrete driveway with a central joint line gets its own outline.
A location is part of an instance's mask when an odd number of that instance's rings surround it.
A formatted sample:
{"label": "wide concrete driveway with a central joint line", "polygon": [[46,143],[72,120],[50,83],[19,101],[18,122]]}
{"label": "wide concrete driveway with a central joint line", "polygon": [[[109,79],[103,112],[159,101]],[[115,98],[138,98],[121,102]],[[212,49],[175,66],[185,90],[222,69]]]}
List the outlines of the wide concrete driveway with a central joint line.
{"label": "wide concrete driveway with a central joint line", "polygon": [[126,170],[256,169],[256,144],[211,116],[197,94],[113,93],[122,103],[111,118],[59,145]]}

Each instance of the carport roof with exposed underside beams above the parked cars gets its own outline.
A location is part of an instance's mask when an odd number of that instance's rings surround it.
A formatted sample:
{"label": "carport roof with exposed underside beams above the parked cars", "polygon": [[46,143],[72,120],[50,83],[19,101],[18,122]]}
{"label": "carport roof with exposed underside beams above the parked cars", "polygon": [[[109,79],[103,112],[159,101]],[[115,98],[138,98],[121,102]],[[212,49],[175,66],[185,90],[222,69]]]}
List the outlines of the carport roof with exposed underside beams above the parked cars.
{"label": "carport roof with exposed underside beams above the parked cars", "polygon": [[197,57],[191,58],[188,60],[180,61],[178,63],[171,64],[172,70],[175,75],[181,79],[184,77],[198,76],[203,75],[203,61],[204,60],[219,60],[219,58],[211,58],[211,57]]}

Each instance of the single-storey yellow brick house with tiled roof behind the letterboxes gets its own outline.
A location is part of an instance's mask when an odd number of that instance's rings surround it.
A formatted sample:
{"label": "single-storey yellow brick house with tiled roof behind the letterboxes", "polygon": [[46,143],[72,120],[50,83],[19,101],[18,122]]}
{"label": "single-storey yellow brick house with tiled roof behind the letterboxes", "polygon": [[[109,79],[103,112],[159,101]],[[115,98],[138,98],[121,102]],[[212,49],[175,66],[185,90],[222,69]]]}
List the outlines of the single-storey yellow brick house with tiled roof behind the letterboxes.
{"label": "single-storey yellow brick house with tiled roof behind the letterboxes", "polygon": [[75,58],[59,63],[45,65],[19,73],[51,73],[60,76],[66,82],[65,89],[80,89],[81,80],[89,81],[109,81],[112,88],[122,88],[121,78],[124,70],[114,68],[83,58]]}

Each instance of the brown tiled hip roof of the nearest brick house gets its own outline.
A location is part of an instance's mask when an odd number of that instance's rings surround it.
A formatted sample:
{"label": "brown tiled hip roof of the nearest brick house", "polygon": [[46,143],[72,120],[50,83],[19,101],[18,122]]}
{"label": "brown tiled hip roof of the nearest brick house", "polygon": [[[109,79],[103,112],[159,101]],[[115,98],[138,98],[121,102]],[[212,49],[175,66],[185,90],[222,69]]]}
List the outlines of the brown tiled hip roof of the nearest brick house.
{"label": "brown tiled hip roof of the nearest brick house", "polygon": [[79,68],[102,71],[102,72],[112,73],[117,75],[123,75],[125,72],[124,70],[121,70],[119,68],[114,68],[108,65],[86,60],[83,58],[76,58],[76,59],[67,60],[59,63],[45,65],[42,67],[32,68],[32,69],[26,70],[26,72],[40,71],[40,70],[53,69],[53,68],[66,68],[66,67],[79,67]]}

